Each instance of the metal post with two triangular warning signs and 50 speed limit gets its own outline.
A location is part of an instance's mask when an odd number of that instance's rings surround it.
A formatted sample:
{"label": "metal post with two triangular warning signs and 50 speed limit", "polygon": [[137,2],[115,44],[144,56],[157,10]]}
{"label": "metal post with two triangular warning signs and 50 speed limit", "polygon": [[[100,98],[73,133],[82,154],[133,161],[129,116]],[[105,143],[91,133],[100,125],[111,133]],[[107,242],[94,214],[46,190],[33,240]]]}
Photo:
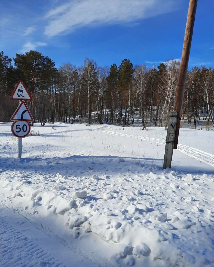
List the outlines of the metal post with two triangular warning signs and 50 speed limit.
{"label": "metal post with two triangular warning signs and 50 speed limit", "polygon": [[18,81],[10,99],[19,100],[19,105],[10,120],[14,121],[11,126],[11,131],[13,135],[18,137],[18,158],[21,158],[22,138],[29,134],[31,128],[29,121],[33,121],[33,117],[25,103],[26,100],[32,100],[32,97],[23,81]]}

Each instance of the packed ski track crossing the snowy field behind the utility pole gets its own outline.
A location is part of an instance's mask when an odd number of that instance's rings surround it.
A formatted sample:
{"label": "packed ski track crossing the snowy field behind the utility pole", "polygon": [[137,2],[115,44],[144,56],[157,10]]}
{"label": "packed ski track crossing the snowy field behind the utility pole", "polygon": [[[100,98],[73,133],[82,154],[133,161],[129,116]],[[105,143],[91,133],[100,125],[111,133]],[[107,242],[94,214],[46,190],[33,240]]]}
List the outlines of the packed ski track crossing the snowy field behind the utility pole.
{"label": "packed ski track crossing the snowy field behind the utility pole", "polygon": [[[145,141],[150,141],[150,142],[154,142],[154,143],[165,145],[165,141],[160,140],[160,139],[118,133],[118,132],[115,132],[115,131],[106,130],[106,127],[102,128],[102,129],[98,129],[98,130],[101,130],[103,132],[107,132],[109,134],[115,134],[115,135],[125,136],[125,137],[132,137],[132,138],[142,139],[142,140],[145,140]],[[110,128],[108,128],[108,129],[110,129]],[[186,154],[187,156],[189,156],[191,158],[194,158],[196,160],[202,161],[202,162],[207,163],[208,165],[214,167],[214,156],[212,154],[210,154],[210,153],[204,152],[204,151],[196,149],[194,147],[188,147],[188,146],[185,146],[185,145],[182,145],[182,144],[178,145],[177,150],[179,150],[180,152]]]}

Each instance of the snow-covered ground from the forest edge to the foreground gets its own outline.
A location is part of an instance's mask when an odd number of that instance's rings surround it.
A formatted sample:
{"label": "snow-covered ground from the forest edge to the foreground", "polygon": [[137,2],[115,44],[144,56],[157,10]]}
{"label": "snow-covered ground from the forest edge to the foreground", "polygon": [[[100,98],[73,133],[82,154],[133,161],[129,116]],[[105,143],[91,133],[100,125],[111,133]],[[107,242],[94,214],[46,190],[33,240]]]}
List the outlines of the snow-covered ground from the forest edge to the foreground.
{"label": "snow-covered ground from the forest edge to the foreground", "polygon": [[214,266],[214,132],[0,124],[0,266]]}

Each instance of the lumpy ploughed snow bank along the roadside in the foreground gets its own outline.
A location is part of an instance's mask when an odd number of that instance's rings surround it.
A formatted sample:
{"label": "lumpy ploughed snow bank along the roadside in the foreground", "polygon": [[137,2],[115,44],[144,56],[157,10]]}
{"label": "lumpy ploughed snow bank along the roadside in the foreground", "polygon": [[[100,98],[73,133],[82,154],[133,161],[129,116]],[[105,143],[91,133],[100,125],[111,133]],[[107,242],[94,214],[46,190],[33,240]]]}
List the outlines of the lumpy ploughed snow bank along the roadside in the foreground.
{"label": "lumpy ploughed snow bank along the roadside in the foreground", "polygon": [[[144,183],[146,180],[151,183],[157,176],[160,177],[159,174],[150,172],[149,175],[140,175],[139,178],[144,180]],[[192,179],[189,179],[190,175],[184,177],[184,181],[177,179],[176,173],[173,178],[170,178],[172,174],[165,172],[163,177],[160,178],[163,179],[163,185],[167,181],[170,186],[163,196],[166,199],[172,198],[173,194],[170,193],[173,190],[181,188],[175,186],[176,184],[181,182],[184,184],[185,179],[193,182]],[[87,191],[93,192],[92,183],[94,187],[100,178],[92,174],[91,181],[93,182],[90,182],[90,177],[88,179],[85,177],[85,179],[86,183],[82,188],[88,188]],[[15,173],[10,178],[1,177],[1,185],[12,192],[12,198],[27,198],[28,205],[25,209],[36,210],[37,205],[41,205],[47,210],[47,215],[64,216],[64,225],[72,230],[73,238],[78,238],[78,231],[83,228],[86,233],[96,233],[98,236],[105,237],[106,241],[114,241],[115,244],[123,245],[117,253],[111,255],[113,261],[118,262],[119,259],[125,258],[127,265],[135,265],[136,261],[149,258],[150,261],[162,260],[167,266],[170,264],[191,266],[196,262],[204,264],[207,261],[205,256],[200,255],[199,257],[195,253],[194,255],[188,253],[174,241],[174,234],[177,235],[180,242],[183,242],[184,236],[192,236],[193,233],[202,231],[204,224],[197,220],[195,215],[192,215],[190,219],[180,208],[173,211],[168,206],[168,213],[165,212],[166,208],[164,207],[156,210],[157,205],[161,204],[161,193],[151,194],[152,187],[149,184],[146,188],[150,187],[150,193],[146,193],[147,189],[144,187],[139,187],[140,190],[136,189],[138,182],[131,189],[129,179],[128,177],[122,179],[117,184],[116,181],[112,181],[113,183],[102,182],[106,193],[97,200],[97,203],[93,198],[91,199],[86,190],[78,189],[78,180],[72,179],[76,189],[73,189],[73,193],[68,193],[70,178],[66,177],[65,179],[59,173],[49,189],[38,189],[36,184],[29,184],[26,177],[18,176]],[[84,179],[82,178],[81,181]],[[178,199],[179,194],[175,196],[174,200],[178,201]],[[183,205],[188,205],[188,199],[193,201],[192,197],[188,197],[186,200],[183,197],[180,199]],[[187,206],[185,210],[188,210]],[[192,210],[193,214],[201,212],[198,206],[193,206]],[[212,212],[207,214],[209,214],[208,217],[213,217]],[[196,241],[196,239],[194,240]]]}

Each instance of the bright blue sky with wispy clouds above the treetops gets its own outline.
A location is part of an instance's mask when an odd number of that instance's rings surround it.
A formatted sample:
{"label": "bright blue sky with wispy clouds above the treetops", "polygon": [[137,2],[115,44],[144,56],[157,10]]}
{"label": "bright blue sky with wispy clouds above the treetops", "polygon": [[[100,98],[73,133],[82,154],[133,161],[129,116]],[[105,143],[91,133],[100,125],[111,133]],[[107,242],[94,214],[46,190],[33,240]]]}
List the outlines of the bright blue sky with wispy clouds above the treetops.
{"label": "bright blue sky with wispy clouds above the treetops", "polygon": [[[37,50],[59,67],[180,59],[188,0],[0,0],[0,50]],[[198,0],[189,68],[214,66],[214,1]],[[5,25],[4,25],[5,24]]]}

